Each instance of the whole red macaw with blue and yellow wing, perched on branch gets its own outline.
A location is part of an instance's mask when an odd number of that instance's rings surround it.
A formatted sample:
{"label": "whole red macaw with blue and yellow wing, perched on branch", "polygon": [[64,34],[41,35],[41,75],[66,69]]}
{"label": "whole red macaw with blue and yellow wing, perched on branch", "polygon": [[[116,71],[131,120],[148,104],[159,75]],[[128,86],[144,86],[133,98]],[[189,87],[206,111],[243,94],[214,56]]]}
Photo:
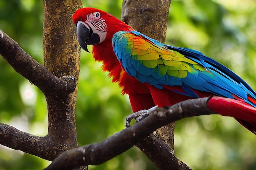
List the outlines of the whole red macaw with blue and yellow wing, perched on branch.
{"label": "whole red macaw with blue and yellow wing, perched on branch", "polygon": [[213,96],[208,106],[256,134],[256,93],[229,68],[199,51],[162,44],[94,8],[73,15],[79,45],[103,62],[133,112]]}

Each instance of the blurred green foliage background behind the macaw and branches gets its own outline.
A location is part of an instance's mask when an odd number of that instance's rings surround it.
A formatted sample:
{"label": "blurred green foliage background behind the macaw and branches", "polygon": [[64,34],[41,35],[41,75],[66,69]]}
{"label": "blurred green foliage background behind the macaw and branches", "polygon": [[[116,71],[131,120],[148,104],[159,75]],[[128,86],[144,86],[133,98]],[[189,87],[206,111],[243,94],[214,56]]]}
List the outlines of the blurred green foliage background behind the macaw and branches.
{"label": "blurred green foliage background behind the macaw and branches", "polygon": [[[0,29],[42,63],[42,0],[0,0]],[[117,18],[122,0],[85,0]],[[166,44],[189,47],[228,66],[256,89],[255,0],[173,0]],[[124,128],[132,113],[128,97],[120,95],[101,63],[81,52],[76,106],[79,146],[100,142]],[[19,130],[47,134],[43,94],[0,57],[0,122]],[[193,170],[255,170],[256,137],[231,117],[207,115],[176,122],[175,152]],[[50,162],[0,146],[0,170],[39,170]],[[94,170],[156,170],[133,147]]]}

